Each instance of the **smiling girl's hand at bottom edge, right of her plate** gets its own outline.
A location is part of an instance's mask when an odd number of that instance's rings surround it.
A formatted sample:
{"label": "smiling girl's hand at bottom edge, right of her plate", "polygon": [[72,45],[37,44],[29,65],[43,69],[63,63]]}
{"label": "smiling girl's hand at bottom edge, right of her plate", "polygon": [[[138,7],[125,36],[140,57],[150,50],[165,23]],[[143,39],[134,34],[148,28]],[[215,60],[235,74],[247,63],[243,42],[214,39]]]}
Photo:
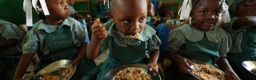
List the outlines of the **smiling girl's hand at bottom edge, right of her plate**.
{"label": "smiling girl's hand at bottom edge, right of her plate", "polygon": [[226,80],[240,80],[240,78],[238,78],[238,75],[235,74],[234,71],[230,70],[230,69],[225,70],[225,79]]}

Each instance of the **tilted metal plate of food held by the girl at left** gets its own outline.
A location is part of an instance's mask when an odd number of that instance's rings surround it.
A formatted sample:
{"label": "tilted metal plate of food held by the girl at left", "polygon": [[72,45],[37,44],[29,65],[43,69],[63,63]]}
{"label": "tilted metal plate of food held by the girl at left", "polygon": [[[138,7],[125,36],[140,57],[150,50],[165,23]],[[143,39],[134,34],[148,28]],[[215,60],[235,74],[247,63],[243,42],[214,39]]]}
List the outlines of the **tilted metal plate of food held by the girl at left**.
{"label": "tilted metal plate of food held by the girl at left", "polygon": [[26,77],[26,80],[69,80],[76,70],[72,60],[59,60],[44,67],[37,74]]}

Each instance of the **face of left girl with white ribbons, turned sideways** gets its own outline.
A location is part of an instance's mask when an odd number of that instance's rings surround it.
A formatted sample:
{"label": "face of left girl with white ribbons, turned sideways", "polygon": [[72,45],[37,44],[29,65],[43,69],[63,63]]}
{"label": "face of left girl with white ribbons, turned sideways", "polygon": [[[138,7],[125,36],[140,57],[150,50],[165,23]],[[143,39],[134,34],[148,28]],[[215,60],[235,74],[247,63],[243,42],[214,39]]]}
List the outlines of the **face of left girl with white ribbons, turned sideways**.
{"label": "face of left girl with white ribbons, turned sideways", "polygon": [[63,20],[70,17],[70,8],[66,0],[46,0],[46,5],[50,15],[46,15],[47,19]]}

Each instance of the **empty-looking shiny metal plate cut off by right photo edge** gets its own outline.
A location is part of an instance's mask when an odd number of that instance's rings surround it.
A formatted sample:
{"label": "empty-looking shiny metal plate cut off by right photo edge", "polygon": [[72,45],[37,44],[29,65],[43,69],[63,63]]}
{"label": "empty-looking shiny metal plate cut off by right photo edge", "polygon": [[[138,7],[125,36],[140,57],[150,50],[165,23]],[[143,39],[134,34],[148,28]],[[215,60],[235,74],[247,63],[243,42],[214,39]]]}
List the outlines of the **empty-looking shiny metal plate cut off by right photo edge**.
{"label": "empty-looking shiny metal plate cut off by right photo edge", "polygon": [[252,74],[256,75],[256,61],[244,61],[242,62],[242,66]]}

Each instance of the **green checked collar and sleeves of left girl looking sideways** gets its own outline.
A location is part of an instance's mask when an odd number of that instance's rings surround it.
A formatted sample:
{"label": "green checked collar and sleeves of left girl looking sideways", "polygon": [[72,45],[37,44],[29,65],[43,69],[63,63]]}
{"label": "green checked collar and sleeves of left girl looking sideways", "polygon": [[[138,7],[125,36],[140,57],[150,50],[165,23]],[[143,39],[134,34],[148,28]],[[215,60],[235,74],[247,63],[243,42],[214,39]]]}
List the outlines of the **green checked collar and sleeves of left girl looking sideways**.
{"label": "green checked collar and sleeves of left girl looking sideways", "polygon": [[74,18],[66,18],[58,26],[47,25],[43,20],[34,24],[33,28],[26,34],[22,42],[22,54],[34,54],[41,50],[44,55],[49,54],[46,46],[45,33],[52,33],[62,26],[70,26],[74,46],[79,47],[81,42],[86,42],[86,29],[81,22]]}

